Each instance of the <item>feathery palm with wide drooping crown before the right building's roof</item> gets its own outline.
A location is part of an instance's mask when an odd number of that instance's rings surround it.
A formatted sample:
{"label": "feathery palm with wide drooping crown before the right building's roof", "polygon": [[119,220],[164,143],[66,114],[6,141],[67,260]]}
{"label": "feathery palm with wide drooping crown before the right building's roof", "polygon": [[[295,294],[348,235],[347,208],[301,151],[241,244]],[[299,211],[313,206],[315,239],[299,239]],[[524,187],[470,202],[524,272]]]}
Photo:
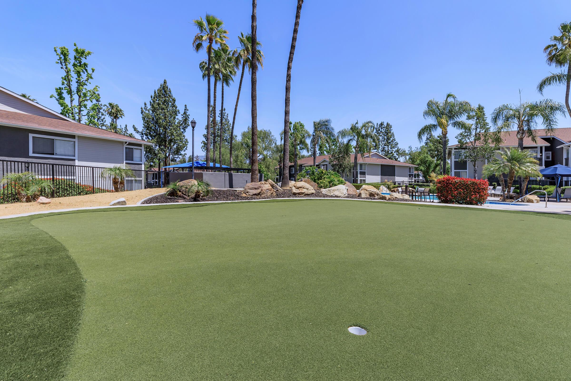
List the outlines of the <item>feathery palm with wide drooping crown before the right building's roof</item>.
{"label": "feathery palm with wide drooping crown before the right building's roof", "polygon": [[528,137],[537,142],[537,121],[541,119],[547,134],[553,134],[557,125],[557,115],[565,115],[564,106],[552,99],[542,99],[538,102],[522,102],[520,90],[519,105],[501,105],[494,110],[492,125],[498,131],[510,131],[516,127],[517,147],[524,149],[524,138]]}

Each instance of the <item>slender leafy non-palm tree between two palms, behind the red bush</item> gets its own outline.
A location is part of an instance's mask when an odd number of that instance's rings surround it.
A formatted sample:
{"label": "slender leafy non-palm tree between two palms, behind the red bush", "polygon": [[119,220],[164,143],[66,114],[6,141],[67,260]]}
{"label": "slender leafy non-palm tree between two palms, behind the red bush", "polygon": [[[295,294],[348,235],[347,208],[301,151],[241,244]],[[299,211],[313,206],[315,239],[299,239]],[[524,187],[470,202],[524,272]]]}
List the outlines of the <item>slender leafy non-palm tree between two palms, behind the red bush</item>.
{"label": "slender leafy non-palm tree between two palms, behind the red bush", "polygon": [[469,121],[461,126],[460,134],[456,135],[460,151],[460,161],[472,163],[474,178],[477,178],[478,161],[490,161],[497,150],[499,135],[492,133],[486,119],[484,106],[478,105],[468,115]]}

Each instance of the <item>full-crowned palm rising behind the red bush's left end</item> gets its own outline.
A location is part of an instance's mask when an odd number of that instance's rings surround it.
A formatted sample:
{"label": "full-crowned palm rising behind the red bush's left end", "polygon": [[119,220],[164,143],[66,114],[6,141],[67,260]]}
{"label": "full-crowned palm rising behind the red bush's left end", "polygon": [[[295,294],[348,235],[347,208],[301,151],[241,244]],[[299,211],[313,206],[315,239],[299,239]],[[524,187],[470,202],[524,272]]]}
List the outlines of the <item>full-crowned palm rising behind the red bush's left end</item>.
{"label": "full-crowned palm rising behind the red bush's left end", "polygon": [[446,173],[446,153],[448,148],[448,127],[455,127],[461,129],[465,126],[466,122],[461,120],[469,111],[472,106],[467,101],[459,101],[456,95],[452,93],[446,94],[444,102],[431,99],[427,103],[427,108],[424,109],[424,119],[432,119],[433,123],[429,123],[420,129],[417,137],[422,141],[424,137],[429,136],[431,133],[440,129],[442,134],[442,173]]}

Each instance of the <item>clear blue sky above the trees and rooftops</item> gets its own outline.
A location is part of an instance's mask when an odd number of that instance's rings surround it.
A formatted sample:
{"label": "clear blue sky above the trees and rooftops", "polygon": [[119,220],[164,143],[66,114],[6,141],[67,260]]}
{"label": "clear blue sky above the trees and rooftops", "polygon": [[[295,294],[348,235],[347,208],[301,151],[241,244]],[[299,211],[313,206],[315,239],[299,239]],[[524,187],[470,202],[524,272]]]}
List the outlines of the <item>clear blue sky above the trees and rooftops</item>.
{"label": "clear blue sky above the trees and rooftops", "polygon": [[[258,127],[278,139],[295,7],[294,0],[258,1],[258,39],[266,55],[258,73]],[[198,122],[198,136],[206,124],[207,86],[198,64],[206,52],[192,50],[191,21],[206,12],[223,19],[232,48],[251,22],[248,1],[14,1],[2,8],[0,31],[9,38],[0,42],[0,86],[59,111],[49,98],[61,77],[53,47],[77,42],[94,52],[89,59],[94,83],[104,103],[118,103],[125,111],[120,122],[140,127],[140,107],[167,79],[179,108],[186,103]],[[449,91],[481,103],[488,116],[502,103],[517,102],[518,89],[524,99],[541,99],[537,82],[554,70],[545,64],[542,48],[570,19],[569,1],[307,0],[293,59],[291,119],[311,127],[328,117],[336,130],[357,119],[386,121],[401,147],[417,146],[427,101]],[[230,115],[238,80],[224,92]],[[563,102],[564,91],[553,87],[544,97]],[[245,77],[236,133],[250,123]],[[559,126],[571,122],[560,119]]]}

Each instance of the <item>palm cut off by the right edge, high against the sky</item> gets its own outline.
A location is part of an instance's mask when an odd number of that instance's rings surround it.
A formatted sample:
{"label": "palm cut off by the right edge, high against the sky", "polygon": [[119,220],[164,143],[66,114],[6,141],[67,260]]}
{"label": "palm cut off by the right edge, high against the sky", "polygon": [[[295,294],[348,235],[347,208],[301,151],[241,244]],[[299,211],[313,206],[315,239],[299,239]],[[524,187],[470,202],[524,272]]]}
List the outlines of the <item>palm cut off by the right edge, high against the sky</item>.
{"label": "palm cut off by the right edge, high against the sky", "polygon": [[569,106],[569,91],[571,90],[571,23],[564,22],[559,26],[558,36],[553,36],[549,45],[543,49],[548,65],[563,67],[560,73],[551,73],[537,85],[537,91],[543,95],[545,87],[552,85],[565,85],[565,107],[571,117]]}

